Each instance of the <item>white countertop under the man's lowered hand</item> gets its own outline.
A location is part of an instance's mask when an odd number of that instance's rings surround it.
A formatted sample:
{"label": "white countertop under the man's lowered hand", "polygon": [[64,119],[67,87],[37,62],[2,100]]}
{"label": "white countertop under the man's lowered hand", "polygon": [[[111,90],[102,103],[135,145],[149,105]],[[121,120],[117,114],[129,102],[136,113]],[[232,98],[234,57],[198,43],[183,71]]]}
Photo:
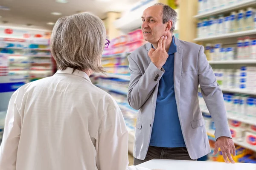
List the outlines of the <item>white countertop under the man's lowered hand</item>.
{"label": "white countertop under the man's lowered hand", "polygon": [[256,164],[152,159],[137,165],[155,170],[256,170]]}

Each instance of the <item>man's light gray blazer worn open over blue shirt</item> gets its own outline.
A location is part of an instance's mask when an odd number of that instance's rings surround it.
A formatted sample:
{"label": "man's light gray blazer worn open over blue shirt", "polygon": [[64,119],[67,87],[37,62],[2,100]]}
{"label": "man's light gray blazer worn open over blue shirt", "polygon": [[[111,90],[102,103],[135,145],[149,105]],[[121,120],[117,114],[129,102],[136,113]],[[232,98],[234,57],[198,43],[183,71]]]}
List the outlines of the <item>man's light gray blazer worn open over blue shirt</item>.
{"label": "man's light gray blazer worn open over blue shirt", "polygon": [[[207,108],[215,122],[215,139],[231,138],[221,88],[204,54],[204,47],[175,37],[177,52],[174,57],[174,89],[183,138],[191,159],[210,153],[204,119],[199,107],[198,85]],[[129,105],[139,110],[134,139],[134,157],[145,159],[151,138],[157,101],[159,70],[148,57],[151,44],[147,43],[128,56],[131,73],[128,88]],[[157,75],[159,75],[157,79]]]}

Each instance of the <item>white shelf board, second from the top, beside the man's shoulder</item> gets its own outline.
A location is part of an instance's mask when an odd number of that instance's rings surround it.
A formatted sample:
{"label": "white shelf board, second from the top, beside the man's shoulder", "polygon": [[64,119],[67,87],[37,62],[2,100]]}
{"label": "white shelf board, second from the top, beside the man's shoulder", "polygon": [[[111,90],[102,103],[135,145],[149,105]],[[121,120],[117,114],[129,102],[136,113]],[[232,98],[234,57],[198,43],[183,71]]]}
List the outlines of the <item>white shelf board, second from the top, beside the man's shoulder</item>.
{"label": "white shelf board, second from the top, beside the man's shoulder", "polygon": [[208,36],[208,37],[203,37],[203,38],[195,38],[194,41],[198,42],[198,41],[209,41],[209,40],[217,40],[217,39],[221,40],[221,39],[226,39],[226,38],[235,38],[235,37],[241,37],[241,36],[247,36],[247,35],[253,35],[253,34],[256,34],[256,29],[228,33],[228,34],[215,35],[215,36]]}

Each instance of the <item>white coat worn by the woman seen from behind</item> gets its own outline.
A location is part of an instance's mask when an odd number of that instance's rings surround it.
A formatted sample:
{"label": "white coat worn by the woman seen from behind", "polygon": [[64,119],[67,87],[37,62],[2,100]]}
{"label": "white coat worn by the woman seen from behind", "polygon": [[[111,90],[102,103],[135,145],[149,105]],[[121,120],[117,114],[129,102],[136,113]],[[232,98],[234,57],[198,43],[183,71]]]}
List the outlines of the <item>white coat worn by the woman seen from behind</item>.
{"label": "white coat worn by the woman seen from behind", "polygon": [[12,95],[0,170],[136,170],[128,166],[122,113],[86,73],[72,68]]}

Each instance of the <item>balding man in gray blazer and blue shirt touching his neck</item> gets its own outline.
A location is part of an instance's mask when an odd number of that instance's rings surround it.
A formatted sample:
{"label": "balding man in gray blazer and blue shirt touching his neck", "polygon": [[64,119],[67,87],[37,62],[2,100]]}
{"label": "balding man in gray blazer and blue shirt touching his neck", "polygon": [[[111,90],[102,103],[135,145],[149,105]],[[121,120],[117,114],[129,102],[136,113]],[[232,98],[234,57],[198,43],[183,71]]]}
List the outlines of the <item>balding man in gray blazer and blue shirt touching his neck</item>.
{"label": "balding man in gray blazer and blue shirt touching his neck", "polygon": [[128,56],[128,102],[139,110],[134,165],[150,159],[196,160],[210,153],[198,85],[215,122],[215,150],[234,163],[235,147],[215,75],[204,47],[172,36],[177,13],[157,3],[142,16],[147,44]]}

